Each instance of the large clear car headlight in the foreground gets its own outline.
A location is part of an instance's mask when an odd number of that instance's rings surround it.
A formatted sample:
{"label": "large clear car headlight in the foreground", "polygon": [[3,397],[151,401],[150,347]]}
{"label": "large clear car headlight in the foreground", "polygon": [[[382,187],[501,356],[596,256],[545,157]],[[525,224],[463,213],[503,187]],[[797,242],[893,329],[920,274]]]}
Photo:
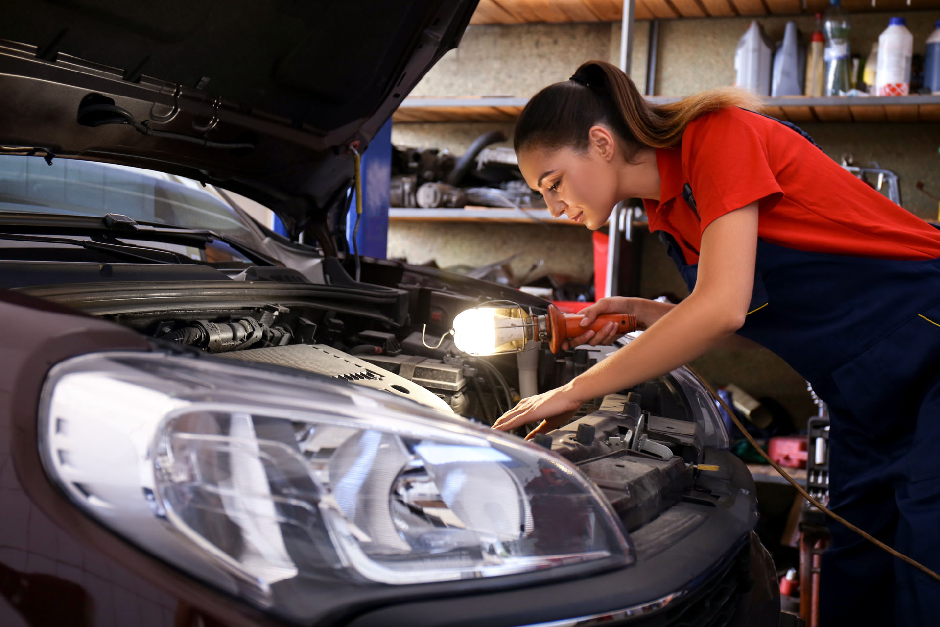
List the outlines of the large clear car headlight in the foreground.
{"label": "large clear car headlight in the foreground", "polygon": [[88,514],[266,607],[311,577],[415,584],[632,559],[568,462],[333,379],[162,353],[74,357],[45,384],[39,442]]}

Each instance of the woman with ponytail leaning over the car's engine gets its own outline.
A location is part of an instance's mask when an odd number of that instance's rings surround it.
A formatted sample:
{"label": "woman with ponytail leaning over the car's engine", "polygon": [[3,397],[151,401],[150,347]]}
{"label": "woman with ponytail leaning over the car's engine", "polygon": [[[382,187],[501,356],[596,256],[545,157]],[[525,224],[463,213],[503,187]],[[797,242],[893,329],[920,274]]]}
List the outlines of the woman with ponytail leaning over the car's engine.
{"label": "woman with ponytail leaning over the car's engine", "polygon": [[[829,405],[830,507],[940,569],[940,230],[735,90],[644,100],[616,66],[582,65],[520,116],[515,150],[553,215],[601,227],[643,198],[691,295],[605,298],[647,330],[494,428],[567,422],[579,405],[662,376],[719,345],[774,351]],[[613,325],[572,339],[610,343]],[[940,624],[940,585],[832,525],[823,624]]]}

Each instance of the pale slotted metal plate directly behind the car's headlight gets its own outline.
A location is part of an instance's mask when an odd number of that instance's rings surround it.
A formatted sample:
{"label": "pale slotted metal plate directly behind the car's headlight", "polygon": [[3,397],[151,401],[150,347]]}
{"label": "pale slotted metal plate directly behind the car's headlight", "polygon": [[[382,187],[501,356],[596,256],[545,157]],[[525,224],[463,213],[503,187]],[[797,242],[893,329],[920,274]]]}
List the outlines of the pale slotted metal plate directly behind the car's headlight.
{"label": "pale slotted metal plate directly behind the car's headlight", "polygon": [[444,400],[439,399],[420,384],[412,383],[405,377],[324,344],[293,344],[291,346],[276,346],[267,349],[227,353],[222,356],[286,368],[297,368],[326,377],[345,379],[353,384],[384,390],[437,410],[451,412],[450,406]]}

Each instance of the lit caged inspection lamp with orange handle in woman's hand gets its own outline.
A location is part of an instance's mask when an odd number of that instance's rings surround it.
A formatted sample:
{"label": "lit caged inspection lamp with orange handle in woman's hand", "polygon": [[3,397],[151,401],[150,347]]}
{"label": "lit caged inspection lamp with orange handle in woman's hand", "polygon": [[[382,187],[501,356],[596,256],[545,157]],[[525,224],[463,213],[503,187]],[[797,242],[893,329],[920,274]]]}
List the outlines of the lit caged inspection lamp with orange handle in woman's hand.
{"label": "lit caged inspection lamp with orange handle in woman's hand", "polygon": [[548,306],[547,314],[537,316],[511,301],[490,301],[459,313],[452,333],[463,353],[491,355],[518,353],[537,341],[547,341],[552,353],[557,353],[565,340],[587,330],[597,333],[608,322],[617,325],[619,334],[639,328],[636,316],[628,314],[601,314],[587,326],[581,326],[582,320],[584,316],[562,313],[554,305]]}

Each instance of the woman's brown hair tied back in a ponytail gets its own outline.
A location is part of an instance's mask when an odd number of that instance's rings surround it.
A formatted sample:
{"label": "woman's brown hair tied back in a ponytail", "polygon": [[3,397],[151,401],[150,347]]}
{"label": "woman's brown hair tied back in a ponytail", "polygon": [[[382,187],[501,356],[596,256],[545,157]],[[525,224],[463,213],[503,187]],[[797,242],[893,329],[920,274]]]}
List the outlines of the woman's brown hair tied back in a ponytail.
{"label": "woman's brown hair tied back in a ponytail", "polygon": [[513,140],[520,149],[587,149],[588,131],[602,125],[623,143],[630,161],[638,149],[669,148],[689,122],[727,107],[760,109],[760,98],[743,89],[719,87],[679,102],[653,104],[623,71],[606,61],[587,61],[571,80],[542,89],[525,105]]}

